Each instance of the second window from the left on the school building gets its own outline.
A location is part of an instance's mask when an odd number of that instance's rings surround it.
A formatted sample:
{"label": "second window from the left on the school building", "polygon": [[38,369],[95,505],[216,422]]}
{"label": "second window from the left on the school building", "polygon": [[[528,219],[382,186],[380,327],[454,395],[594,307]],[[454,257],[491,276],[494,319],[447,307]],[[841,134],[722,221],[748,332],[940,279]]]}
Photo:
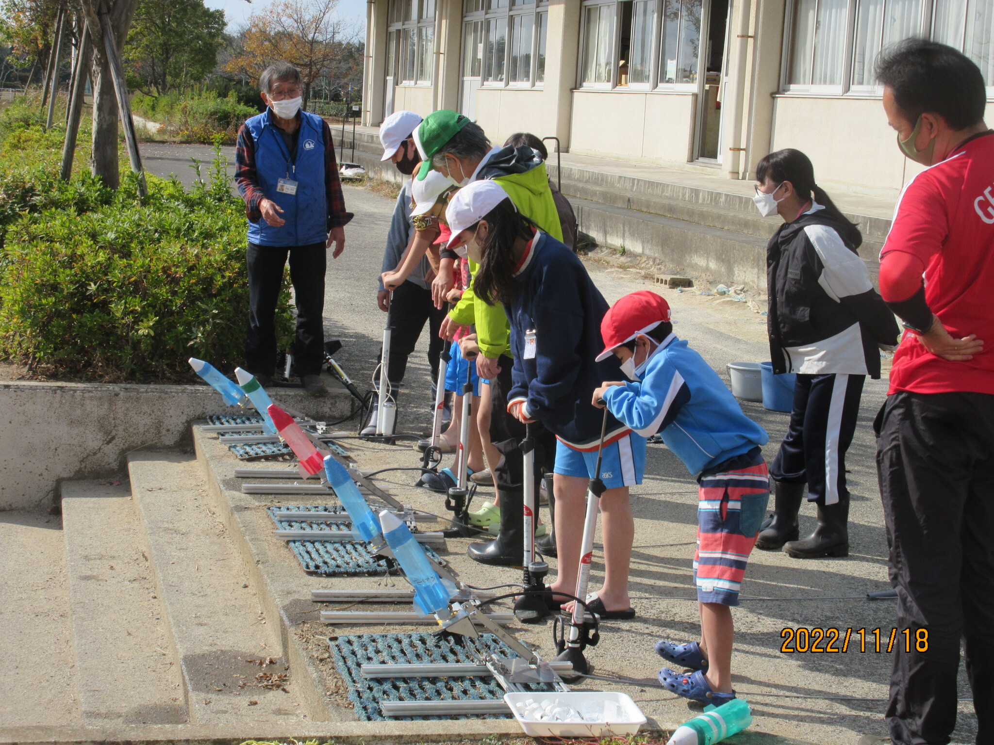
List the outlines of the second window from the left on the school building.
{"label": "second window from the left on the school building", "polygon": [[[463,0],[463,13],[462,13],[462,39],[466,38],[466,27],[469,24],[481,22],[482,33],[481,39],[484,44],[484,56],[481,59],[479,81],[481,88],[509,88],[512,90],[532,90],[532,89],[542,89],[545,87],[545,80],[536,80],[538,76],[538,65],[539,65],[539,34],[543,27],[545,28],[547,34],[549,31],[549,2],[550,0],[535,0],[531,3],[518,3],[515,4],[515,0],[506,0],[507,5],[505,7],[489,8],[490,0]],[[479,6],[480,9],[467,10],[470,4],[474,6]],[[496,4],[496,3],[494,3]],[[531,53],[529,57],[528,66],[528,79],[527,80],[517,80],[510,81],[511,76],[511,51],[512,51],[512,40],[513,40],[513,30],[514,30],[514,19],[521,16],[532,16],[532,39],[531,39]],[[545,17],[545,22],[543,23],[543,17]],[[500,80],[487,80],[486,79],[486,67],[487,67],[487,56],[486,56],[486,39],[487,39],[487,22],[496,21],[499,19],[504,19],[506,22],[506,36],[504,41],[504,60],[503,60],[503,74]],[[546,40],[548,46],[548,39]],[[459,60],[459,70],[460,70],[460,80],[472,79],[476,77],[475,75],[466,75],[466,50],[460,50],[460,60]]]}

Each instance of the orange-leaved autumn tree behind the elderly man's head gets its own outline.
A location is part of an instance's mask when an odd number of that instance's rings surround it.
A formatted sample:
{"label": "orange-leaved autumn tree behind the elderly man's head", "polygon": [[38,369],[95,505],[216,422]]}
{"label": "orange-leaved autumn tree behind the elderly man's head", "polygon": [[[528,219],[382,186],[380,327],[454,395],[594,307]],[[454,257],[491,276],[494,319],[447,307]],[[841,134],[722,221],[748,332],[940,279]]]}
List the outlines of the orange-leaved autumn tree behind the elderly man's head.
{"label": "orange-leaved autumn tree behind the elderly man's head", "polygon": [[351,74],[343,64],[357,65],[359,41],[355,24],[338,17],[339,0],[277,0],[248,19],[241,51],[225,65],[228,73],[257,83],[269,65],[280,60],[293,65],[303,78],[303,105],[321,77]]}

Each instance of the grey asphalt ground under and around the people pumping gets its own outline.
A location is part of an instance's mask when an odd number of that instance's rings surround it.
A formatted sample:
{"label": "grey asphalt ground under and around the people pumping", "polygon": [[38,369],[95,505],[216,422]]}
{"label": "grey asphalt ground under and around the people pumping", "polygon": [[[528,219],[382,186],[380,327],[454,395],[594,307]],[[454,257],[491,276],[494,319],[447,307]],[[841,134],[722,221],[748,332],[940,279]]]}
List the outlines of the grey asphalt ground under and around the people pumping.
{"label": "grey asphalt ground under and around the people pumping", "polygon": [[[192,171],[183,171],[190,155],[207,160],[210,154],[210,148],[157,143],[145,143],[142,150],[149,171],[160,175],[174,172],[185,183],[192,183],[192,177],[187,177],[189,181],[184,179],[184,173]],[[370,387],[382,339],[384,314],[376,304],[376,277],[394,203],[363,189],[348,186],[344,189],[347,209],[356,218],[346,228],[345,252],[338,259],[329,259],[325,333],[326,338],[342,340],[343,348],[336,359],[365,390]],[[677,336],[688,340],[726,381],[728,363],[768,359],[765,318],[750,311],[745,303],[721,302],[722,298],[697,292],[662,290],[631,270],[595,261],[586,261],[586,265],[609,302],[637,289],[649,288],[663,294],[673,307]],[[405,391],[399,402],[399,432],[419,432],[430,422],[426,348],[425,330],[408,366]],[[885,393],[885,380],[867,381],[859,424],[847,457],[847,478],[852,492],[850,555],[800,560],[780,552],[755,550],[749,558],[743,603],[733,611],[736,623],[733,682],[749,700],[755,719],[749,733],[737,742],[855,745],[862,735],[886,734],[883,713],[892,664],[887,648],[896,622],[895,603],[865,599],[868,592],[890,587],[871,428]],[[786,430],[787,414],[767,411],[750,402],[743,402],[743,408],[769,433],[770,441],[763,454],[767,461],[771,460]],[[407,444],[388,446],[359,441],[350,444],[365,470],[414,467],[418,462]],[[412,487],[414,476],[399,472],[393,476],[385,474],[383,478],[402,501],[421,509],[433,505],[434,511],[442,511],[440,499]],[[487,495],[483,490],[479,497]],[[588,650],[587,657],[596,674],[626,676],[640,684],[590,680],[580,687],[624,691],[638,701],[648,716],[660,724],[675,725],[697,711],[684,699],[654,687],[655,674],[663,661],[653,653],[652,645],[660,638],[678,641],[698,638],[691,566],[697,484],[664,446],[649,446],[645,480],[632,489],[632,509],[636,525],[631,592],[638,617],[632,622],[603,624],[600,644]],[[543,513],[544,519],[548,519]],[[805,505],[801,511],[801,534],[808,534],[814,524],[814,510]],[[520,579],[518,571],[483,567],[460,555],[468,542],[448,541],[449,559],[467,582],[495,584]],[[555,571],[555,560],[551,563]],[[591,589],[599,586],[602,570],[595,550]],[[783,630],[798,628],[838,629],[842,638],[847,630],[853,631],[845,653],[783,651]],[[874,629],[881,630],[880,652],[873,641]],[[865,651],[861,649],[859,630],[865,630],[868,640]],[[364,632],[369,630],[336,629],[329,633]],[[526,627],[516,633],[538,644],[543,653],[551,652],[546,628]],[[903,637],[898,639],[895,645]],[[841,646],[841,642],[836,645]],[[976,736],[976,718],[963,671],[959,695],[960,716],[953,742],[972,742]]]}

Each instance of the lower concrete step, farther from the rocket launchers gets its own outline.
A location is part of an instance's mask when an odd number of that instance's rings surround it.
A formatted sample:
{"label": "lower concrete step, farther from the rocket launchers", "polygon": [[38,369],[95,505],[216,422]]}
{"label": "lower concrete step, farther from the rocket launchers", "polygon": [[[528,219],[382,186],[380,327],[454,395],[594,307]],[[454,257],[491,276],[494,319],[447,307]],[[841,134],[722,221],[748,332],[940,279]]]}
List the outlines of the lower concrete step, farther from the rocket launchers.
{"label": "lower concrete step, farther from the rocket launchers", "polygon": [[187,706],[128,485],[62,485],[83,722],[178,724]]}

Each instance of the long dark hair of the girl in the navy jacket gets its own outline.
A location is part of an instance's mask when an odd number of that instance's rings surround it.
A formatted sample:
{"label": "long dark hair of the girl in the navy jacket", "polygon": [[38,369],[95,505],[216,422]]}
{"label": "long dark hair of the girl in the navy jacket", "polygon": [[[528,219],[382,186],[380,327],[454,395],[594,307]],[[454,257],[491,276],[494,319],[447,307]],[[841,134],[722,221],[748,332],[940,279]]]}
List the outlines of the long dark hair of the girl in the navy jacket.
{"label": "long dark hair of the girl in the navy jacket", "polygon": [[[519,213],[511,200],[502,200],[483,216],[489,226],[482,241],[482,261],[473,278],[473,292],[487,305],[506,303],[517,292],[514,280],[514,243],[518,238],[531,240],[535,224]],[[477,223],[474,226],[478,226]]]}

